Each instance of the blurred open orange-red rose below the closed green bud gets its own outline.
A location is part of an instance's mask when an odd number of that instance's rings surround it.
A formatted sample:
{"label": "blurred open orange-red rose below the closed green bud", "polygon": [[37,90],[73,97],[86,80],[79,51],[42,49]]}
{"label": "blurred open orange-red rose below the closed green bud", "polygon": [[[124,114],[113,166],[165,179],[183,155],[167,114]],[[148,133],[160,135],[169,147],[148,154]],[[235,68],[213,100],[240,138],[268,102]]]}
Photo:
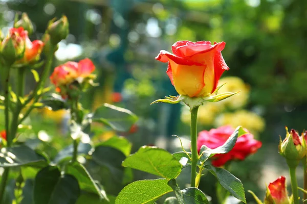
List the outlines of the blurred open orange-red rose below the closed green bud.
{"label": "blurred open orange-red rose below the closed green bud", "polygon": [[56,86],[57,91],[61,86],[69,85],[76,80],[82,80],[89,77],[95,70],[95,65],[90,59],[77,62],[67,62],[57,66],[50,76],[51,82]]}

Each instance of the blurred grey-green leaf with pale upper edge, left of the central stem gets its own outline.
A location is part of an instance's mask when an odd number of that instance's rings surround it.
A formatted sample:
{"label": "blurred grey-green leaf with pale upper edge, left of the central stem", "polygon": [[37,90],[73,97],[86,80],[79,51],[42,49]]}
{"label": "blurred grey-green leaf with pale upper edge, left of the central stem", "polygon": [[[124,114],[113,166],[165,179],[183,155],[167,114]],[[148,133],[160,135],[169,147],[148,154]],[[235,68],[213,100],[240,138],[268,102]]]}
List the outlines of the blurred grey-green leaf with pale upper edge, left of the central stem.
{"label": "blurred grey-green leaf with pale upper edge, left of the central stem", "polygon": [[138,120],[138,117],[127,109],[104,104],[95,111],[92,119],[102,122],[116,131],[127,132]]}

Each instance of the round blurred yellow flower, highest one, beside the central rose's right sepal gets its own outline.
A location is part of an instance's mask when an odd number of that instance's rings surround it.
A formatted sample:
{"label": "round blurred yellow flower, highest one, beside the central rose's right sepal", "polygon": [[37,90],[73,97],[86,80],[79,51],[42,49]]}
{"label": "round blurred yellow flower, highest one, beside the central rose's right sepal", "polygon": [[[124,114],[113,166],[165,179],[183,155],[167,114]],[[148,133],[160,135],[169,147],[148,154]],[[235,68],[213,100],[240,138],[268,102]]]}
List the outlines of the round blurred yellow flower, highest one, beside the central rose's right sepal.
{"label": "round blurred yellow flower, highest one, beside the central rose's right sepal", "polygon": [[218,102],[218,105],[226,106],[230,109],[239,109],[246,105],[249,98],[249,87],[242,79],[238,77],[224,77],[218,82],[218,86],[223,84],[225,85],[218,90],[218,93],[240,92],[232,97]]}

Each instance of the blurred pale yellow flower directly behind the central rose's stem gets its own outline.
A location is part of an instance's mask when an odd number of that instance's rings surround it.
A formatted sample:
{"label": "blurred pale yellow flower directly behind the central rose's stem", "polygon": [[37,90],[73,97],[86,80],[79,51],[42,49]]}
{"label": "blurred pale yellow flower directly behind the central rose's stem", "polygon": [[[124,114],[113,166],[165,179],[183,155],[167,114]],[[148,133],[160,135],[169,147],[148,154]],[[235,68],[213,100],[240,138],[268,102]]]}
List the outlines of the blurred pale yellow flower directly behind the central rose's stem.
{"label": "blurred pale yellow flower directly behind the central rose's stem", "polygon": [[[213,123],[216,114],[222,111],[222,107],[218,106],[217,103],[205,103],[203,106],[200,106],[198,111],[198,122],[203,125],[210,125]],[[187,106],[183,106],[181,121],[189,124],[191,122],[190,109]]]}

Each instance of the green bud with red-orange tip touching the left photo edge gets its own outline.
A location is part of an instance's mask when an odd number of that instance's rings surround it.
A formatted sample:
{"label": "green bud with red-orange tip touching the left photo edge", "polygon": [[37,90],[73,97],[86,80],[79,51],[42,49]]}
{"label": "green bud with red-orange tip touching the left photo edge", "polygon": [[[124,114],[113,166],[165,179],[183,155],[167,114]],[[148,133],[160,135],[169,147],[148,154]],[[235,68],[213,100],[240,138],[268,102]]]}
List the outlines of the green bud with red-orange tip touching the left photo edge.
{"label": "green bud with red-orange tip touching the left photo edge", "polygon": [[8,64],[21,59],[25,53],[27,31],[23,28],[12,28],[0,45],[0,52]]}

